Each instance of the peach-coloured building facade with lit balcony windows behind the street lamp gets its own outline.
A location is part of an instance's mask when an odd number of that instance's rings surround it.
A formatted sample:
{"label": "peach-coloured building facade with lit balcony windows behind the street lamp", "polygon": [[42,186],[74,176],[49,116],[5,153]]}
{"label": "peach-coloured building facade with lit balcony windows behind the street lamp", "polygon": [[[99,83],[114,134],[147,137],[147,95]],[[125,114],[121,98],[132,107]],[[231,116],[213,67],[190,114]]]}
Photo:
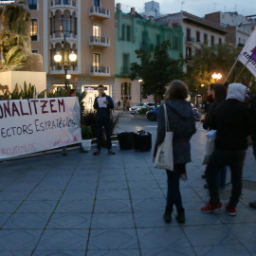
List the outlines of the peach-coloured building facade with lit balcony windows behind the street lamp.
{"label": "peach-coloured building facade with lit balcony windows behind the street lamp", "polygon": [[[93,108],[103,84],[112,96],[115,90],[114,0],[29,0],[31,47],[43,55],[46,87],[64,87],[65,70],[71,87],[87,91],[85,107]],[[56,54],[62,56],[60,64]],[[71,63],[69,54],[77,60]]]}

